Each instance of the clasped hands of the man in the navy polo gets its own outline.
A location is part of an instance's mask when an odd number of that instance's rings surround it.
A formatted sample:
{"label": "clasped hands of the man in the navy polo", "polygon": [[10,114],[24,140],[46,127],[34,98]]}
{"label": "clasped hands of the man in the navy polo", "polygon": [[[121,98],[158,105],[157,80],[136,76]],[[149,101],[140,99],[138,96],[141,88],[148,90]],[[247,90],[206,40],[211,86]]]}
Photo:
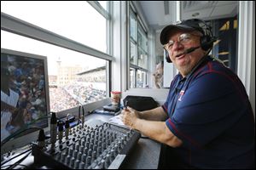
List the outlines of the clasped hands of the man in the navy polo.
{"label": "clasped hands of the man in the navy polo", "polygon": [[126,126],[135,128],[135,124],[137,119],[139,118],[139,112],[132,109],[131,107],[127,107],[127,109],[122,111],[122,122],[125,123]]}

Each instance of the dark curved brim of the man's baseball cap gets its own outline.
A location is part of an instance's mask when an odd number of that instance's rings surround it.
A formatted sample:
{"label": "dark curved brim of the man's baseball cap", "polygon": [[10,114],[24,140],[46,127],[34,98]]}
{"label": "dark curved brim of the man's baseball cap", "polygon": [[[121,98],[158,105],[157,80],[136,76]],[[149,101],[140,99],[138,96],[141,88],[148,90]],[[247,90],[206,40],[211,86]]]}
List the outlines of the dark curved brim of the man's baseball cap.
{"label": "dark curved brim of the man's baseball cap", "polygon": [[170,34],[170,31],[174,29],[179,29],[179,30],[186,30],[186,31],[193,31],[195,28],[191,26],[184,26],[184,25],[170,25],[166,26],[160,33],[160,42],[162,45],[166,44],[168,42],[168,35]]}

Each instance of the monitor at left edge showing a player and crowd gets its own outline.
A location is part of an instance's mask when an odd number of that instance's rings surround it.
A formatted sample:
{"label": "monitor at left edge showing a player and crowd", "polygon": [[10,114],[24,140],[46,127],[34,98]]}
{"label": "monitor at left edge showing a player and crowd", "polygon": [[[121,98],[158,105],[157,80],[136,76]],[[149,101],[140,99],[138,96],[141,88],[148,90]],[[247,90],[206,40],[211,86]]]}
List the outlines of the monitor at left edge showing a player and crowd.
{"label": "monitor at left edge showing a player and crowd", "polygon": [[1,155],[49,131],[47,58],[1,48]]}

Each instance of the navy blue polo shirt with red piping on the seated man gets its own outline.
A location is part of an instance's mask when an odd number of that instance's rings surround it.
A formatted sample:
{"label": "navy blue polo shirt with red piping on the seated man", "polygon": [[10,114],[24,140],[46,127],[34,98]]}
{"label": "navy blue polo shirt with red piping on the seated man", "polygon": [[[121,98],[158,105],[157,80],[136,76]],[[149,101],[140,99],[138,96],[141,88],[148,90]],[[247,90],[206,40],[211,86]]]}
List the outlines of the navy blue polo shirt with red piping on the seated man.
{"label": "navy blue polo shirt with red piping on the seated man", "polygon": [[252,107],[240,79],[218,61],[207,56],[187,77],[177,74],[162,107],[167,127],[183,141],[176,149],[185,164],[255,166]]}

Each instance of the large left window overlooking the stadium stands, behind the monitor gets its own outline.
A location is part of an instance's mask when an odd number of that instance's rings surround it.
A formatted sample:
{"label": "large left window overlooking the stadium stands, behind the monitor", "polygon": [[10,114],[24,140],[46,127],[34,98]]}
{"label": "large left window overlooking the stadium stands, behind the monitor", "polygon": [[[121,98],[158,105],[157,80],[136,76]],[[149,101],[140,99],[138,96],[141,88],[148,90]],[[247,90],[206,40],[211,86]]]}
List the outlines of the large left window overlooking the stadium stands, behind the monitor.
{"label": "large left window overlooking the stadium stands, behind the monitor", "polygon": [[[86,2],[1,5],[5,13],[1,14],[1,48],[48,59],[50,111],[65,111],[108,97],[112,56],[107,54],[106,23],[110,20]],[[10,20],[12,24],[5,25]]]}

